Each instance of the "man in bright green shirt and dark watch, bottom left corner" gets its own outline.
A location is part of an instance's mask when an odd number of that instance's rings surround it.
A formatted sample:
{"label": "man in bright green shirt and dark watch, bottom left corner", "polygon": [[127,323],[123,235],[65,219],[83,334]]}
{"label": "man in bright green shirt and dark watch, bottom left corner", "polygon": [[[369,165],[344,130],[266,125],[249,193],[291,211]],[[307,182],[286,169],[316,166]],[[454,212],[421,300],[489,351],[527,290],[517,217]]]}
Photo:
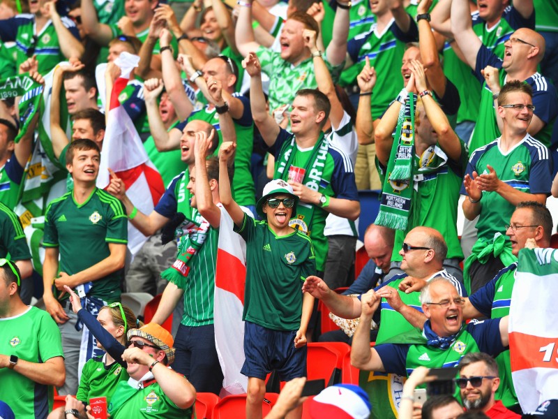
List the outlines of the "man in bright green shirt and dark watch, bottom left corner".
{"label": "man in bright green shirt and dark watch, bottom left corner", "polygon": [[50,315],[20,298],[15,263],[0,259],[0,399],[17,418],[46,418],[49,385],[66,378],[60,331]]}

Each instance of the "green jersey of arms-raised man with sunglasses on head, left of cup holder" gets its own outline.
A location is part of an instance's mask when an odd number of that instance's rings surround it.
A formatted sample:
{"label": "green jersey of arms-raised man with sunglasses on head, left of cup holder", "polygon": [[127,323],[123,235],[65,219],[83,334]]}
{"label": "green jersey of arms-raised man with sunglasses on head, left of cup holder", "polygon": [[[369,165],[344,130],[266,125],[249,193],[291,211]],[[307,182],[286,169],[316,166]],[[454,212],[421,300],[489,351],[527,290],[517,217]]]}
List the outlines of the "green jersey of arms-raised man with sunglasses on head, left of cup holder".
{"label": "green jersey of arms-raised man with sunglasses on head, left of cup holder", "polygon": [[[250,102],[247,98],[240,94],[233,95],[239,98],[244,105],[244,114],[241,120],[233,119],[234,131],[236,131],[236,154],[234,155],[234,180],[232,189],[234,200],[239,205],[256,205],[256,189],[252,172],[250,172],[250,159],[252,158],[252,147],[254,145],[254,124],[250,114]],[[219,125],[219,115],[215,108],[203,108],[197,112],[193,112],[188,117],[188,122],[199,119],[209,124],[217,130],[219,134],[219,145],[215,150],[218,154],[221,143],[223,142],[223,134]]]}

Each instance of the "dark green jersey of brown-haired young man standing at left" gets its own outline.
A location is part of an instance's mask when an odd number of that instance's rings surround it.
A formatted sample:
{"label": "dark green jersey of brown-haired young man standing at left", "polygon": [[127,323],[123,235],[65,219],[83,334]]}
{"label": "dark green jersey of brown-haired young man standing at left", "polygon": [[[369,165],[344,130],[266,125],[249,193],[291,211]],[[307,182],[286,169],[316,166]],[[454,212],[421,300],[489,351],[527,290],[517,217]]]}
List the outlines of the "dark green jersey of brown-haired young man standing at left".
{"label": "dark green jersey of brown-haired young man standing at left", "polygon": [[[43,246],[59,247],[61,272],[72,275],[107,258],[110,243],[128,243],[128,216],[114,196],[96,188],[82,204],[68,192],[48,205]],[[120,272],[112,272],[93,281],[89,295],[119,301],[120,283]]]}

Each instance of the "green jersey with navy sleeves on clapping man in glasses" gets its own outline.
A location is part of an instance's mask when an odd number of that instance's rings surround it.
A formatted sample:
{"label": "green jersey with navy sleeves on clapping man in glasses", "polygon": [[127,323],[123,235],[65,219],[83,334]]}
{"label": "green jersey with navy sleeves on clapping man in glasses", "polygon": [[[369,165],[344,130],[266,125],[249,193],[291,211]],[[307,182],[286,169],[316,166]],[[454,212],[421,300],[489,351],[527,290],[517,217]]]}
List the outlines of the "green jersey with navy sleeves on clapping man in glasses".
{"label": "green jersey with navy sleeves on clapping man in glasses", "polygon": [[[488,165],[494,168],[499,180],[525,193],[550,193],[550,161],[548,148],[529,134],[506,154],[500,151],[500,138],[484,147],[476,149],[467,166],[467,174],[472,176],[488,173]],[[465,194],[465,188],[462,189]],[[495,233],[505,233],[515,205],[508,203],[495,191],[483,191],[481,214],[476,223],[478,239],[492,240]],[[506,240],[508,237],[506,236]]]}

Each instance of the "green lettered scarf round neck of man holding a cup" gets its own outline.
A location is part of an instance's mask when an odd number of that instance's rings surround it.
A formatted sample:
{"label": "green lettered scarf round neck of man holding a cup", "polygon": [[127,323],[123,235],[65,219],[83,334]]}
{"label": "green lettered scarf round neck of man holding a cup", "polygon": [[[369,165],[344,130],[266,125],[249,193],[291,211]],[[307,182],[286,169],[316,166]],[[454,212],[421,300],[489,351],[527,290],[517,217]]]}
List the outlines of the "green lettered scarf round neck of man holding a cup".
{"label": "green lettered scarf round neck of man holding a cup", "polygon": [[[303,185],[308,186],[308,188],[314,191],[318,191],[320,187],[327,187],[327,185],[323,184],[322,173],[326,165],[328,149],[329,143],[324,133],[320,133],[312,149],[312,155],[304,168],[306,172],[302,182]],[[279,159],[276,163],[275,179],[283,179],[286,181],[289,178],[289,168],[294,162],[295,155],[296,140],[293,135],[291,141],[285,141],[281,147]],[[312,216],[314,216],[315,209],[316,205],[299,202],[299,205],[296,207],[296,218],[289,221],[289,226],[295,230],[301,230],[306,235],[310,235],[310,226],[312,226]]]}

